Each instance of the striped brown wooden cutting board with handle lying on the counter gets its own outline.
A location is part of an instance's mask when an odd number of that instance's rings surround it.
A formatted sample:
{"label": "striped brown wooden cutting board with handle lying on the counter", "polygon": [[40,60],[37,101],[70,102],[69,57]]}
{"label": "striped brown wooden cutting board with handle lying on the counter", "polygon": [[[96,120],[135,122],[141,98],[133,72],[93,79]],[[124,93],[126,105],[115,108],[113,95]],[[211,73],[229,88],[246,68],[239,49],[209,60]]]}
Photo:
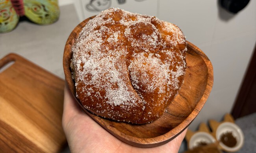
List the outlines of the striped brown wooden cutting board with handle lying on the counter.
{"label": "striped brown wooden cutting board with handle lying on the counter", "polygon": [[0,152],[59,152],[65,81],[16,54],[0,60]]}

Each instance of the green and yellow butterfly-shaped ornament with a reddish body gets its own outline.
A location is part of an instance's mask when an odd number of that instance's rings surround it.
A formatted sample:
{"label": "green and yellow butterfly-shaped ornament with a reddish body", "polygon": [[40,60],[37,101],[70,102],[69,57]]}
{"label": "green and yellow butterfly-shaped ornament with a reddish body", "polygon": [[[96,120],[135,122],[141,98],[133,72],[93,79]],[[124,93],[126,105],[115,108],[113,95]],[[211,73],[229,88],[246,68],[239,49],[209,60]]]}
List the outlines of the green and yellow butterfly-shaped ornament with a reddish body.
{"label": "green and yellow butterfly-shaped ornament with a reddish body", "polygon": [[58,0],[0,1],[0,33],[12,31],[22,16],[36,24],[52,24],[59,18]]}

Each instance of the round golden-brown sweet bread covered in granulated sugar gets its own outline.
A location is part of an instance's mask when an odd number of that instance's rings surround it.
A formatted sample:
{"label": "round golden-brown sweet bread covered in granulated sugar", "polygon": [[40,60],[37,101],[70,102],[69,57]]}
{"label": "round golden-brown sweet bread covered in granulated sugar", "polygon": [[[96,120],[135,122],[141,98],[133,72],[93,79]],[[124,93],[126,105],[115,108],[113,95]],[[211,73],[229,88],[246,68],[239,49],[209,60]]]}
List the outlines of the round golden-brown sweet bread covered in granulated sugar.
{"label": "round golden-brown sweet bread covered in granulated sugar", "polygon": [[76,96],[101,117],[152,122],[182,85],[186,50],[174,24],[117,8],[102,11],[72,47]]}

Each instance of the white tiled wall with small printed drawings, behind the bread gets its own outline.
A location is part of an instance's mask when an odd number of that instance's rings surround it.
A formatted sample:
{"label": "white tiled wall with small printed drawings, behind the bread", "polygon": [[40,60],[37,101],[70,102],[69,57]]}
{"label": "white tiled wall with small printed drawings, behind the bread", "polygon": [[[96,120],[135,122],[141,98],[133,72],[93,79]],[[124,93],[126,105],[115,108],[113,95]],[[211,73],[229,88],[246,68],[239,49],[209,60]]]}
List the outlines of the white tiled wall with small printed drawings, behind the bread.
{"label": "white tiled wall with small printed drawings, behind the bread", "polygon": [[[208,119],[221,120],[232,109],[256,44],[256,1],[250,0],[236,15],[220,8],[217,0],[124,1],[119,4],[118,0],[109,0],[110,7],[172,22],[182,29],[188,41],[206,53],[213,65],[214,85],[208,101],[189,128],[196,129],[200,122]],[[98,14],[85,9],[89,2],[74,0],[80,21]]]}

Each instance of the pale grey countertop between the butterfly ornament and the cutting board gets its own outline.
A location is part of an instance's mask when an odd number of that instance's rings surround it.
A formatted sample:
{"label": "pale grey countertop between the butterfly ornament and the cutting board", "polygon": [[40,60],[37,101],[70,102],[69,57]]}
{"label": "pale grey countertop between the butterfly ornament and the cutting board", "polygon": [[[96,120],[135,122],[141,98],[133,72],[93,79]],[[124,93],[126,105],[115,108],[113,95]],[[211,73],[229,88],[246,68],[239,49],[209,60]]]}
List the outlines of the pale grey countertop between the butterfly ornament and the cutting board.
{"label": "pale grey countertop between the butterfly ornament and the cutting board", "polygon": [[0,34],[0,59],[17,53],[64,79],[63,51],[68,36],[79,24],[74,5],[60,7],[59,20],[40,26],[23,20],[9,33]]}

